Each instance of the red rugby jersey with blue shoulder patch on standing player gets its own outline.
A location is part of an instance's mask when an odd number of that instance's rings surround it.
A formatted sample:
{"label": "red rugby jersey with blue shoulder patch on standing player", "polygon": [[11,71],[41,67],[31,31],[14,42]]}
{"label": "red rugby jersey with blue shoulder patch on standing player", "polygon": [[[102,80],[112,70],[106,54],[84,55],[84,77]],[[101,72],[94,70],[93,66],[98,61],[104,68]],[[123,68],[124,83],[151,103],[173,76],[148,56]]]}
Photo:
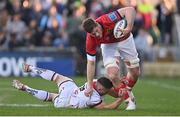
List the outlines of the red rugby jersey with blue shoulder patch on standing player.
{"label": "red rugby jersey with blue shoulder patch on standing player", "polygon": [[116,42],[125,40],[127,38],[127,36],[126,36],[123,38],[116,39],[113,35],[114,26],[117,23],[117,21],[119,21],[121,19],[122,19],[122,17],[118,11],[104,14],[96,19],[96,22],[98,22],[103,28],[103,37],[102,38],[94,38],[94,37],[90,36],[89,33],[87,33],[86,52],[88,55],[95,56],[96,48],[98,46],[100,46],[100,44],[102,44],[102,43],[104,43],[104,44],[116,43]]}

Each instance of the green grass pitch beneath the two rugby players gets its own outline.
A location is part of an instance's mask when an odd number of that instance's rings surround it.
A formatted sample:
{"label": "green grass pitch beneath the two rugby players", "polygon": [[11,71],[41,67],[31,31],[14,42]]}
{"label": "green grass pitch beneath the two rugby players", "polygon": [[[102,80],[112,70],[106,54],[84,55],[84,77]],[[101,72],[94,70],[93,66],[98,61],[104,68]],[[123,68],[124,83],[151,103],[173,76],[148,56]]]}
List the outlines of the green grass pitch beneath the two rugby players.
{"label": "green grass pitch beneath the two rugby players", "polygon": [[[16,78],[17,79],[17,78]],[[13,78],[0,78],[0,115],[41,115],[41,116],[169,116],[180,115],[180,78],[145,77],[133,89],[137,110],[125,111],[125,104],[116,110],[56,109],[50,102],[42,102],[31,95],[17,91],[11,86]],[[37,89],[57,92],[54,83],[40,78],[19,78],[23,83]],[[85,77],[74,78],[80,86]],[[105,101],[114,98],[106,96]]]}

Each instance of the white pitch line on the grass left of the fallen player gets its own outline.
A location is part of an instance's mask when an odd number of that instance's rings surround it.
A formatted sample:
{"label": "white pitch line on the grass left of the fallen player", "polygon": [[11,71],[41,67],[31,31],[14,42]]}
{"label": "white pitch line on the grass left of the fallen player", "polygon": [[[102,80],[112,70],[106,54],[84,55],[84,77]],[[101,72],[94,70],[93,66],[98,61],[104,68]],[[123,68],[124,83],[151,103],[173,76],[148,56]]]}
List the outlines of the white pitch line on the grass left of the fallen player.
{"label": "white pitch line on the grass left of the fallen player", "polygon": [[47,107],[49,105],[44,104],[1,104],[0,107]]}

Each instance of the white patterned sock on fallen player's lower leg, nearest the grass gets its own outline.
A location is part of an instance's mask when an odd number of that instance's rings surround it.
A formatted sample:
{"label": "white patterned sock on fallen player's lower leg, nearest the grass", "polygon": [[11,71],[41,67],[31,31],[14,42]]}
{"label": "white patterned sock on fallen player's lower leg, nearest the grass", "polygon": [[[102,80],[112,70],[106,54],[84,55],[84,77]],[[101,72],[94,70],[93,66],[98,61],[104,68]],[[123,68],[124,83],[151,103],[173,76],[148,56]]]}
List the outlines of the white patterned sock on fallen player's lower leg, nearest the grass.
{"label": "white patterned sock on fallen player's lower leg, nearest the grass", "polygon": [[49,93],[47,91],[33,89],[28,86],[26,86],[25,91],[39,100],[47,101],[49,98]]}

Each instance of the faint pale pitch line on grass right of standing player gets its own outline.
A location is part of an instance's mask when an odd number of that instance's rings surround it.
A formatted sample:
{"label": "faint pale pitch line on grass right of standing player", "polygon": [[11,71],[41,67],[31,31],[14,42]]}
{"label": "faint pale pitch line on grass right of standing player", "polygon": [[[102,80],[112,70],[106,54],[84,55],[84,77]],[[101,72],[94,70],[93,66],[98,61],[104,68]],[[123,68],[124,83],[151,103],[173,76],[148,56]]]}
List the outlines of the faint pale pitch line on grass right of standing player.
{"label": "faint pale pitch line on grass right of standing player", "polygon": [[180,87],[169,85],[169,84],[164,84],[156,81],[145,81],[148,84],[159,86],[162,88],[170,89],[170,90],[175,90],[175,91],[180,91]]}

